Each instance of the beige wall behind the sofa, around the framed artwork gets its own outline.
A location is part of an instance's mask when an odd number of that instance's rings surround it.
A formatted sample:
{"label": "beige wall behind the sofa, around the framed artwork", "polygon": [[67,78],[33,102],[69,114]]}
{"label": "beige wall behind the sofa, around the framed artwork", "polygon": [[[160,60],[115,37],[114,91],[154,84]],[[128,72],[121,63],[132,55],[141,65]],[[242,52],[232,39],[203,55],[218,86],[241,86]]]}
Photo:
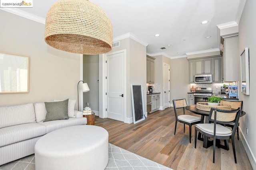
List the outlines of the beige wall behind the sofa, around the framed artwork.
{"label": "beige wall behind the sofa, around the framed artwork", "polygon": [[0,106],[76,99],[80,55],[44,42],[44,24],[0,10],[0,51],[30,57],[29,93],[0,94]]}

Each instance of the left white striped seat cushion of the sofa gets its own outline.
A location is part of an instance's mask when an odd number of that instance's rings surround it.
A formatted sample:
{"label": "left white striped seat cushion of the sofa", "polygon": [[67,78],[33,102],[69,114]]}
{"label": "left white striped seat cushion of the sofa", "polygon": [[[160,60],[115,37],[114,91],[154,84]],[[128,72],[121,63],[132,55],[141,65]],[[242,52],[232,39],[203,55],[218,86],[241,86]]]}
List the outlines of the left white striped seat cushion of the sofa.
{"label": "left white striped seat cushion of the sofa", "polygon": [[25,141],[46,134],[45,126],[39,123],[26,123],[0,129],[0,147]]}

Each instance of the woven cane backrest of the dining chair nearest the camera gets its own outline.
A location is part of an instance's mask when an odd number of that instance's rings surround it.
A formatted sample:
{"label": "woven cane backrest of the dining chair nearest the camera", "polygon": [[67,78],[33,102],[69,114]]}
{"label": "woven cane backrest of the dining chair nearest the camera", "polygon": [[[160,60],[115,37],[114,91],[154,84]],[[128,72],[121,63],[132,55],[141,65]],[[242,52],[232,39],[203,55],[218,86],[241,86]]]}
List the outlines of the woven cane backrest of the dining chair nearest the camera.
{"label": "woven cane backrest of the dining chair nearest the camera", "polygon": [[235,123],[232,129],[232,135],[234,135],[233,133],[236,133],[240,113],[240,107],[236,110],[220,110],[212,107],[209,114],[209,122],[214,122],[214,131],[216,129],[216,123],[221,125]]}

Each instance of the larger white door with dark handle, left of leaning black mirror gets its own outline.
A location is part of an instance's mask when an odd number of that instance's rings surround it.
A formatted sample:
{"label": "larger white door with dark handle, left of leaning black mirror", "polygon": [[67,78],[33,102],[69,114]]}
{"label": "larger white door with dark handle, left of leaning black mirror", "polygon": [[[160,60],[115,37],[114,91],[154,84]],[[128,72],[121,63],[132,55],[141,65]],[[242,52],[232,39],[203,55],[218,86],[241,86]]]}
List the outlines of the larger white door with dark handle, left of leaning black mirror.
{"label": "larger white door with dark handle, left of leaning black mirror", "polygon": [[124,121],[124,52],[106,55],[106,115]]}

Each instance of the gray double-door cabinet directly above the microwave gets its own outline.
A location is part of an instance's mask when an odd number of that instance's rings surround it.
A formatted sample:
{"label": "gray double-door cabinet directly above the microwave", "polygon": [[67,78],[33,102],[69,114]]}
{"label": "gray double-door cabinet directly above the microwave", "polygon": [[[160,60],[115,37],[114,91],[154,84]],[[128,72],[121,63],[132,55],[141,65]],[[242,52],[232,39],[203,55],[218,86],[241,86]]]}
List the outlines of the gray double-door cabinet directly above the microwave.
{"label": "gray double-door cabinet directly above the microwave", "polygon": [[212,59],[195,60],[195,74],[211,74]]}

